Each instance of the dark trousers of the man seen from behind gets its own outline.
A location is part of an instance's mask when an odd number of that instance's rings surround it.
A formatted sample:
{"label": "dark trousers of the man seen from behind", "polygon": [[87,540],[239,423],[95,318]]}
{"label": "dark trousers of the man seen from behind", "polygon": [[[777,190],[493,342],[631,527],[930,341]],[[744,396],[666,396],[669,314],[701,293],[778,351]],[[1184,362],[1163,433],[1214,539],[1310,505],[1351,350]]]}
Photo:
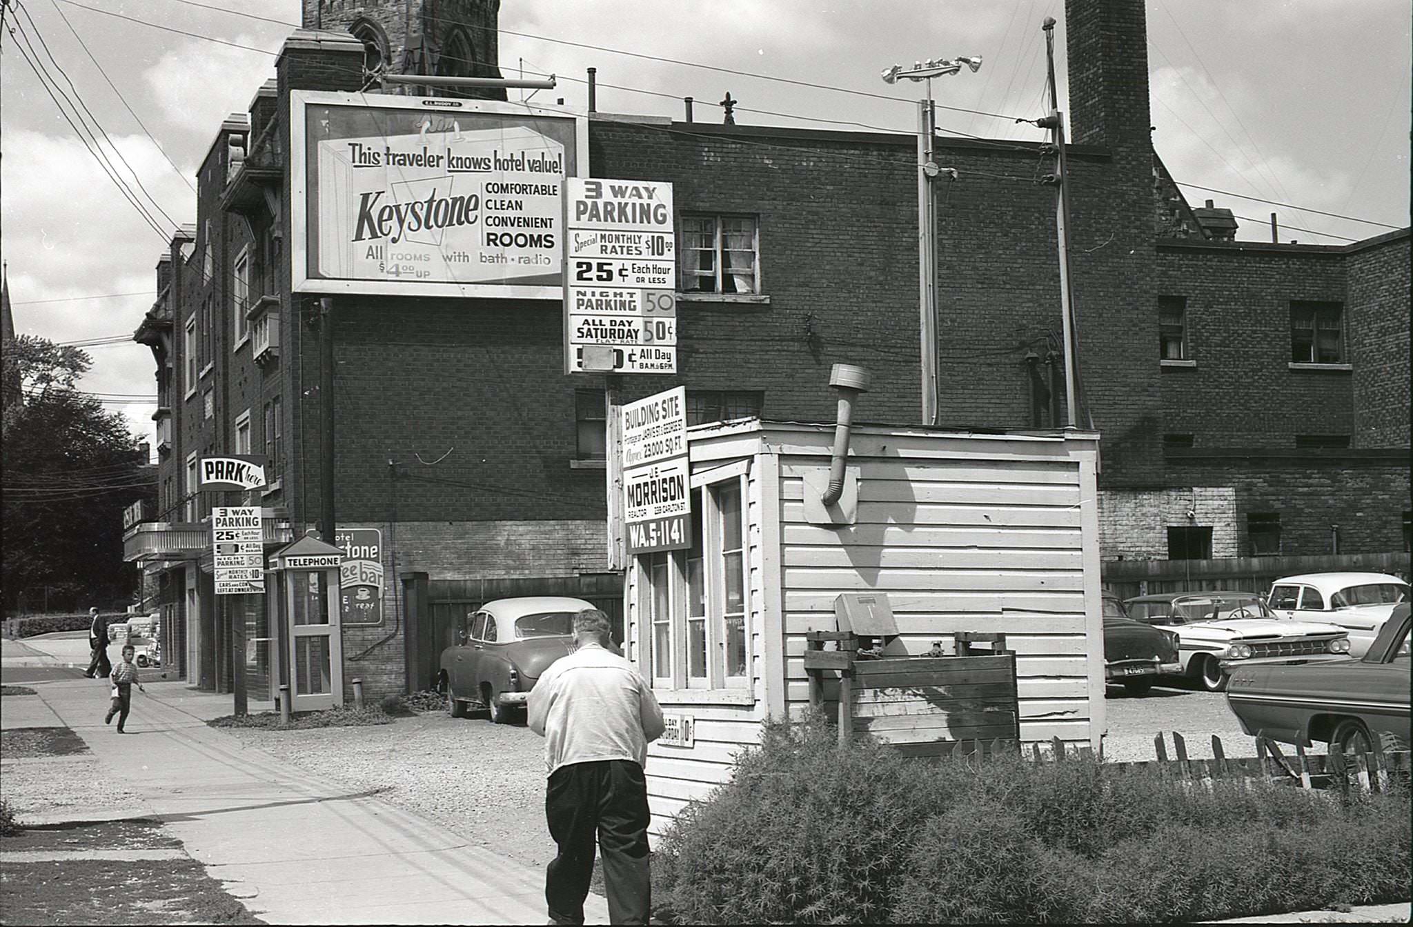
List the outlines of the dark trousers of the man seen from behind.
{"label": "dark trousers of the man seen from behind", "polygon": [[609,921],[646,924],[647,780],[632,760],[569,763],[554,770],[544,815],[560,855],[548,866],[544,899],[557,924],[582,924],[593,875],[593,838],[603,851]]}

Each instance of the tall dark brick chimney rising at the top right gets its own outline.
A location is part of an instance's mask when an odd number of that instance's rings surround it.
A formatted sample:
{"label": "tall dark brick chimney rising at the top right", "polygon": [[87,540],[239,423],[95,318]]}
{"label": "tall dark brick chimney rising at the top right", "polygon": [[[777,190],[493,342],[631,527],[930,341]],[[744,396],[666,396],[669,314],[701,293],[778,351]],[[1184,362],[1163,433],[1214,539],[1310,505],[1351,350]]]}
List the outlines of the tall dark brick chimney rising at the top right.
{"label": "tall dark brick chimney rising at the top right", "polygon": [[1070,140],[1152,151],[1143,0],[1065,0]]}

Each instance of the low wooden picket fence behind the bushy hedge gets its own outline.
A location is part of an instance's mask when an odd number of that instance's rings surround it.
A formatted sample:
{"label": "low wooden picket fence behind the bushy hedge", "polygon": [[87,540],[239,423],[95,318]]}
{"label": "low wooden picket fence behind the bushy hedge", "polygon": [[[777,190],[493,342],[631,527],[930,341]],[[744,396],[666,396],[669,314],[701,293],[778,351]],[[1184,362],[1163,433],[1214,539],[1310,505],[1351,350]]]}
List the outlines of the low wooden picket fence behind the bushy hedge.
{"label": "low wooden picket fence behind the bushy hedge", "polygon": [[[1156,757],[1128,763],[1105,763],[1104,769],[1118,776],[1159,776],[1178,781],[1241,780],[1251,783],[1287,784],[1297,789],[1338,789],[1348,794],[1358,791],[1386,791],[1393,779],[1409,780],[1413,755],[1409,750],[1385,750],[1378,742],[1372,749],[1354,753],[1306,753],[1304,748],[1289,745],[1282,749],[1270,738],[1256,738],[1256,756],[1226,756],[1221,738],[1212,735],[1212,756],[1190,757],[1187,740],[1173,732],[1173,753],[1169,755],[1163,733],[1153,738]],[[991,759],[1020,755],[1034,762],[1065,762],[1094,759],[1088,746],[1074,746],[1054,738],[1046,745],[1016,740],[952,740],[938,745],[940,757]]]}

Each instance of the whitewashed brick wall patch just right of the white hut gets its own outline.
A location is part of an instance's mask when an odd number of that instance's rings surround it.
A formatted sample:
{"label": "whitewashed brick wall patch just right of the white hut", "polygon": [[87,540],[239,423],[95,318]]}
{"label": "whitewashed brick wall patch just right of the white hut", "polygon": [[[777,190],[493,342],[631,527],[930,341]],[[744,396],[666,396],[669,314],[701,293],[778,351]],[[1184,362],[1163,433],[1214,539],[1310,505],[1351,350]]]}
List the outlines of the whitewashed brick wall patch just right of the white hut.
{"label": "whitewashed brick wall patch just right of the white hut", "polygon": [[[1193,519],[1187,517],[1190,510]],[[1235,557],[1236,490],[1190,486],[1099,492],[1099,550],[1105,558],[1167,560],[1169,527],[1210,527],[1212,557]]]}

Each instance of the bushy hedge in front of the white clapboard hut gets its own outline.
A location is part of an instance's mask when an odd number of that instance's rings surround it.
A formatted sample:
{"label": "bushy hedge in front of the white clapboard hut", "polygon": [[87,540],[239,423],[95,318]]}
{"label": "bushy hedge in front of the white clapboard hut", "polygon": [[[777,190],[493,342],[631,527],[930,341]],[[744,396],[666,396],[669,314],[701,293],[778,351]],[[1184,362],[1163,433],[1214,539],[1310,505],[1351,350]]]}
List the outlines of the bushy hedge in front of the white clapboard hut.
{"label": "bushy hedge in front of the white clapboard hut", "polygon": [[1406,791],[906,760],[769,725],[654,854],[677,923],[1163,923],[1409,897]]}

